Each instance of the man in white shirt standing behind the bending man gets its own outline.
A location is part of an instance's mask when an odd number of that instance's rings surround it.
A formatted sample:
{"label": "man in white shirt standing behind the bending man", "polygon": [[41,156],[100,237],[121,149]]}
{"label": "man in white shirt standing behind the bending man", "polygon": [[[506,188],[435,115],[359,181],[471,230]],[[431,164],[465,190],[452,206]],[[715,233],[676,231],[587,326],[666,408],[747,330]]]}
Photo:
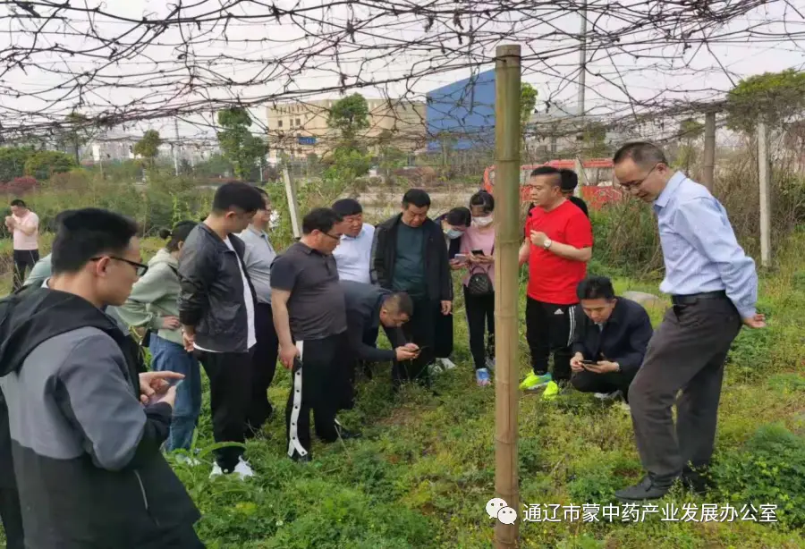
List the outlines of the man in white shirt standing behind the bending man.
{"label": "man in white shirt standing behind the bending man", "polygon": [[[371,283],[369,261],[372,257],[372,241],[375,227],[363,223],[363,207],[354,198],[341,198],[333,204],[333,210],[343,217],[339,230],[343,233],[341,243],[333,252],[338,267],[339,280],[352,280],[356,283]],[[377,346],[377,328],[370,328],[363,334],[363,343],[369,347]],[[368,364],[363,364],[364,373],[371,378]]]}

